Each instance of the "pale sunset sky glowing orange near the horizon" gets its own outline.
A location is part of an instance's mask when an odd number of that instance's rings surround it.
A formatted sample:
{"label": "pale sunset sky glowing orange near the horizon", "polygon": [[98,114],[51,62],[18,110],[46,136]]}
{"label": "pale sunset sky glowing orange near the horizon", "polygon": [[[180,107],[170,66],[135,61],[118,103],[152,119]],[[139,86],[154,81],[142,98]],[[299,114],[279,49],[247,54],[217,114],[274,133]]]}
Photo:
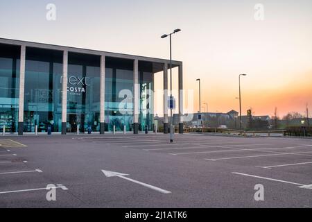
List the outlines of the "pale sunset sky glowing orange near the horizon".
{"label": "pale sunset sky glowing orange near the horizon", "polygon": [[[56,21],[46,20],[48,3],[56,6]],[[256,3],[264,6],[263,21],[254,19]],[[17,40],[168,58],[168,40],[160,36],[175,28],[182,32],[173,36],[173,59],[183,61],[194,110],[196,78],[202,106],[228,112],[239,110],[239,74],[247,74],[243,114],[252,108],[271,116],[275,106],[280,117],[303,114],[306,103],[312,113],[311,0],[0,1],[0,37]],[[157,74],[156,89],[161,81]],[[162,115],[162,105],[155,112]]]}

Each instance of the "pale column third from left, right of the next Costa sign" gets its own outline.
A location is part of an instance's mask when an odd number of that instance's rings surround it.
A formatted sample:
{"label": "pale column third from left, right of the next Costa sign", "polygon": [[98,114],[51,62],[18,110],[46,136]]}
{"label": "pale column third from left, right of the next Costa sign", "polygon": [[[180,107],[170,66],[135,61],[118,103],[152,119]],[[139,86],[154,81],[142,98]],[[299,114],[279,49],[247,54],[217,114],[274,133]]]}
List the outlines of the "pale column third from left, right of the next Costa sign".
{"label": "pale column third from left, right of the next Costa sign", "polygon": [[100,134],[105,133],[105,56],[101,56]]}

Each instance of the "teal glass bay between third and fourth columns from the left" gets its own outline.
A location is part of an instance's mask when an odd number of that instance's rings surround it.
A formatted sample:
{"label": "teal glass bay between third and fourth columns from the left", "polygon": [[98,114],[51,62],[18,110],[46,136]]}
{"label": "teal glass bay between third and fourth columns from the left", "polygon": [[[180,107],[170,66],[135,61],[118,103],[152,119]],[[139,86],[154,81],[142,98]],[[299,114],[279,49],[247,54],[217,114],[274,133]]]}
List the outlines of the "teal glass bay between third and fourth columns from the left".
{"label": "teal glass bay between third and fourth columns from the left", "polygon": [[106,58],[105,67],[105,130],[132,131],[133,61]]}

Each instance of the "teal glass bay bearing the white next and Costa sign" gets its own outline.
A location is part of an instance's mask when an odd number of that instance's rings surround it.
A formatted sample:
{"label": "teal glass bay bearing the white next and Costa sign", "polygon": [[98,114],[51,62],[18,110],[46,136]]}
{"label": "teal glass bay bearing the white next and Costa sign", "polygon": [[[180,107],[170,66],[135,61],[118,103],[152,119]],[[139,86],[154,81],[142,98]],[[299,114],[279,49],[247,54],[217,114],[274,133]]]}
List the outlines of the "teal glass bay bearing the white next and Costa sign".
{"label": "teal glass bay bearing the white next and Costa sign", "polygon": [[69,53],[67,132],[100,130],[100,56]]}

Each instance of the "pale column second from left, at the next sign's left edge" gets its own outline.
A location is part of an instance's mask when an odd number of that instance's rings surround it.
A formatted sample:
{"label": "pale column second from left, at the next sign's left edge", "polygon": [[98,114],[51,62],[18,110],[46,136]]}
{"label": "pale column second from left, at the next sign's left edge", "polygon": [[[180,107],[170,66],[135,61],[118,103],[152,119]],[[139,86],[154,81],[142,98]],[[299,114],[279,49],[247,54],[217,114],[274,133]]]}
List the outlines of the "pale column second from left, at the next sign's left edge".
{"label": "pale column second from left, at the next sign's left edge", "polygon": [[68,51],[63,52],[63,76],[62,76],[62,135],[67,133],[67,72]]}

